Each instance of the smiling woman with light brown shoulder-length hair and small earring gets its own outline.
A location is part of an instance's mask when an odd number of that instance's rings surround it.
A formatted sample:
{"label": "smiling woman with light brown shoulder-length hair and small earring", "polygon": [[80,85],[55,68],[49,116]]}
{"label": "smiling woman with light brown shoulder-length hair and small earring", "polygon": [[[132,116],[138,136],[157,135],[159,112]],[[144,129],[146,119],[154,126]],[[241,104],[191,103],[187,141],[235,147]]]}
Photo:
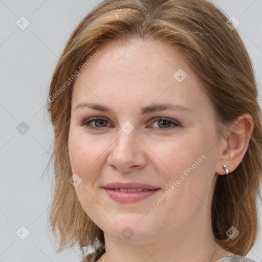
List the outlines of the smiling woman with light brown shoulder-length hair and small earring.
{"label": "smiling woman with light brown shoulder-length hair and small earring", "polygon": [[211,3],[100,3],[50,86],[58,251],[95,248],[81,261],[252,261],[257,95],[243,41]]}

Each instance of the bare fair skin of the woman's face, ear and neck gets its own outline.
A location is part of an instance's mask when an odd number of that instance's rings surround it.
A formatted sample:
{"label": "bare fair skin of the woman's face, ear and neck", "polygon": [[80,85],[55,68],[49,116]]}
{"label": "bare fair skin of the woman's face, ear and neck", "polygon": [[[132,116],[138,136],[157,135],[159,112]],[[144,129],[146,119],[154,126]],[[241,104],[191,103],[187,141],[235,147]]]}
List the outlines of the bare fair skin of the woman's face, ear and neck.
{"label": "bare fair skin of the woman's face, ear and neck", "polygon": [[[235,132],[229,132],[227,140],[219,140],[211,102],[176,49],[165,42],[151,41],[149,45],[139,39],[128,43],[114,40],[99,50],[98,58],[74,82],[69,132],[72,171],[82,179],[75,188],[77,197],[105,234],[106,255],[99,260],[207,262],[232,255],[214,241],[211,200],[217,176],[225,174],[222,164],[233,171],[245,155],[252,117],[243,115],[229,127],[235,127]],[[182,82],[173,77],[178,69],[187,74]],[[114,113],[85,106],[74,110],[82,102],[106,105]],[[192,112],[165,110],[140,115],[141,107],[156,103],[181,104]],[[84,126],[91,117],[105,120]],[[180,125],[161,124],[156,117]],[[128,135],[121,129],[126,121],[135,127]],[[202,155],[205,160],[154,207],[152,202]],[[102,188],[115,181],[161,189],[139,202],[118,203]],[[127,226],[134,232],[129,239],[121,234]]]}

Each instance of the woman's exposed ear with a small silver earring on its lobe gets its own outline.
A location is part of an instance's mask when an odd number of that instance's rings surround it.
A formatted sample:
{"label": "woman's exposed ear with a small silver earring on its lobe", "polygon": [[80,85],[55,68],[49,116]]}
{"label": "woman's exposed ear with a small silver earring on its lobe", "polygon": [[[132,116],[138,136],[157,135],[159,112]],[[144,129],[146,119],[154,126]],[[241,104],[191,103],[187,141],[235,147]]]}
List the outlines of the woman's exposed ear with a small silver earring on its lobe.
{"label": "woman's exposed ear with a small silver earring on its lobe", "polygon": [[226,174],[223,164],[228,166],[229,173],[237,168],[246,154],[253,128],[253,118],[248,113],[238,117],[231,124],[229,135],[227,134],[221,143],[216,173]]}

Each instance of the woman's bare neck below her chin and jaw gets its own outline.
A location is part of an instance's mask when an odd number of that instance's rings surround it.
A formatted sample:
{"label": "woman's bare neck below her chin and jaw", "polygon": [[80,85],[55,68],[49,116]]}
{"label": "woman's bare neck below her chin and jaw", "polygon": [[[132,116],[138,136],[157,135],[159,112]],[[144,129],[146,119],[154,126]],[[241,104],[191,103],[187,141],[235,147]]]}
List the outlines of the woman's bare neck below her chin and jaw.
{"label": "woman's bare neck below her chin and jaw", "polygon": [[167,231],[156,232],[155,237],[150,239],[132,240],[131,237],[127,241],[119,241],[105,232],[106,253],[99,260],[101,262],[215,262],[222,257],[232,255],[214,241],[210,211],[207,210],[204,211],[206,216],[203,216],[203,213],[199,214],[193,221],[184,221],[183,225],[174,223],[171,228],[167,227]]}

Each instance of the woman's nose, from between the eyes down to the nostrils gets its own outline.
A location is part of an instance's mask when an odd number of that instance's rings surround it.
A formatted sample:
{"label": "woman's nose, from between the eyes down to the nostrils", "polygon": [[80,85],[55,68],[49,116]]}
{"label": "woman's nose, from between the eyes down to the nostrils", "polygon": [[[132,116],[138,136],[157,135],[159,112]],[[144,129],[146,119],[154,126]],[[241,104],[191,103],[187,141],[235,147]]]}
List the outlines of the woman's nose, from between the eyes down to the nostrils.
{"label": "woman's nose, from between the eyes down to the nostrils", "polygon": [[115,170],[128,173],[143,168],[147,163],[145,158],[147,147],[136,136],[134,130],[127,135],[120,129],[119,138],[113,143],[112,148],[107,164]]}

